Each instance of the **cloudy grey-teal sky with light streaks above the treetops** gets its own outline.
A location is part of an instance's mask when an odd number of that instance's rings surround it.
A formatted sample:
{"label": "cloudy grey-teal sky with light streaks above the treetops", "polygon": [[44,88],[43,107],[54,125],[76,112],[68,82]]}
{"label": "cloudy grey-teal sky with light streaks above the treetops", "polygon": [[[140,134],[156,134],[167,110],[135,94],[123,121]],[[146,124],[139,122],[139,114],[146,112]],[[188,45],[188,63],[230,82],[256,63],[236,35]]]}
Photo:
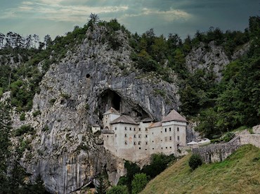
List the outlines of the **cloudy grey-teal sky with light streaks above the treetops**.
{"label": "cloudy grey-teal sky with light streaks above the treetops", "polygon": [[116,18],[133,33],[153,28],[157,35],[184,39],[209,27],[245,30],[249,16],[260,15],[260,0],[0,0],[0,32],[54,39],[83,27],[91,13],[100,20]]}

